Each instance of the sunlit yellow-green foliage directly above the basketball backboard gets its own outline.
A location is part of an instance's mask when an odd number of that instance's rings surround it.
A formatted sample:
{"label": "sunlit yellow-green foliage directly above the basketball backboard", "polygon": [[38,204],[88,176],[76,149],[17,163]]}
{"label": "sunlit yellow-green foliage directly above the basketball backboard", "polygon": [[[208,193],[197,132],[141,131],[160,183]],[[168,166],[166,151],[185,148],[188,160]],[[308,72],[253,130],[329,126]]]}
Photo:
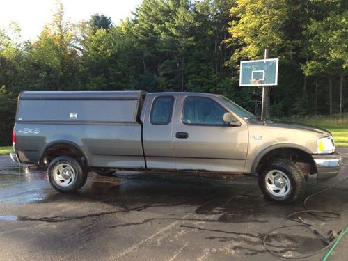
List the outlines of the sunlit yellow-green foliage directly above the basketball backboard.
{"label": "sunlit yellow-green foliage directly above the basketball backboard", "polygon": [[237,0],[231,15],[237,17],[230,22],[229,31],[237,38],[240,47],[232,58],[263,58],[264,49],[278,56],[279,49],[286,44],[285,20],[290,15],[286,0]]}

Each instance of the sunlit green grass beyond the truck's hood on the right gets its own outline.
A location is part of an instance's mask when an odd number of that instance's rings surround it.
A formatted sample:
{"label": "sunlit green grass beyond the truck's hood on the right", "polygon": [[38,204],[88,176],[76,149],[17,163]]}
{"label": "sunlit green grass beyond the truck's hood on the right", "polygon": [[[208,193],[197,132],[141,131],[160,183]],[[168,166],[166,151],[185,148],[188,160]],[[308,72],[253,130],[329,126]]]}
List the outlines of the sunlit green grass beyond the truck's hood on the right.
{"label": "sunlit green grass beyond the truck's hood on the right", "polygon": [[348,147],[348,115],[338,116],[308,116],[302,118],[285,118],[287,122],[297,122],[329,130],[335,139],[336,146]]}

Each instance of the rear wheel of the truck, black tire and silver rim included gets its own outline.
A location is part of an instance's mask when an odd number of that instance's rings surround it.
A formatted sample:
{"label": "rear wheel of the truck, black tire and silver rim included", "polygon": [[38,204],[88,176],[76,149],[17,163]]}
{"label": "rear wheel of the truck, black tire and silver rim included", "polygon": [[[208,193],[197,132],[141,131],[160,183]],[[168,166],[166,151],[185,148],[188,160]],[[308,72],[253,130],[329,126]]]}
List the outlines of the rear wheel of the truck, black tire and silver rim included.
{"label": "rear wheel of the truck, black tire and silver rim included", "polygon": [[84,186],[87,180],[87,171],[84,171],[76,159],[60,156],[49,163],[47,176],[54,189],[63,193],[72,193]]}

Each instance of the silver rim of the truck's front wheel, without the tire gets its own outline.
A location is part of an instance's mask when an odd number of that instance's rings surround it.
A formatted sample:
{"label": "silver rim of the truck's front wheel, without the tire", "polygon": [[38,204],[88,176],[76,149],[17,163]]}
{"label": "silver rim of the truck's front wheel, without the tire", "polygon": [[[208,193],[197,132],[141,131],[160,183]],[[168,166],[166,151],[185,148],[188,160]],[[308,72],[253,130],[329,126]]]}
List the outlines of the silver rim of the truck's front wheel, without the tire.
{"label": "silver rim of the truck's front wheel, without the tire", "polygon": [[287,196],[290,193],[291,183],[283,171],[269,171],[265,177],[266,189],[276,197]]}

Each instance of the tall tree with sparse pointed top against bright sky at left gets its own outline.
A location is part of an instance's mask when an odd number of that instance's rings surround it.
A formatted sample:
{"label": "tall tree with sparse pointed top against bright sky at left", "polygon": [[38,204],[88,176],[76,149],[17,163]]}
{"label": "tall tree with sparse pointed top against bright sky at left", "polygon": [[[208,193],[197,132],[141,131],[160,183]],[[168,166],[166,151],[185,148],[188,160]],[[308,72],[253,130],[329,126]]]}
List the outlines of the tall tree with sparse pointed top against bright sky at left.
{"label": "tall tree with sparse pointed top against bright sky at left", "polygon": [[73,46],[72,25],[65,22],[64,8],[58,3],[52,22],[46,24],[28,49],[35,90],[74,90],[79,56]]}

